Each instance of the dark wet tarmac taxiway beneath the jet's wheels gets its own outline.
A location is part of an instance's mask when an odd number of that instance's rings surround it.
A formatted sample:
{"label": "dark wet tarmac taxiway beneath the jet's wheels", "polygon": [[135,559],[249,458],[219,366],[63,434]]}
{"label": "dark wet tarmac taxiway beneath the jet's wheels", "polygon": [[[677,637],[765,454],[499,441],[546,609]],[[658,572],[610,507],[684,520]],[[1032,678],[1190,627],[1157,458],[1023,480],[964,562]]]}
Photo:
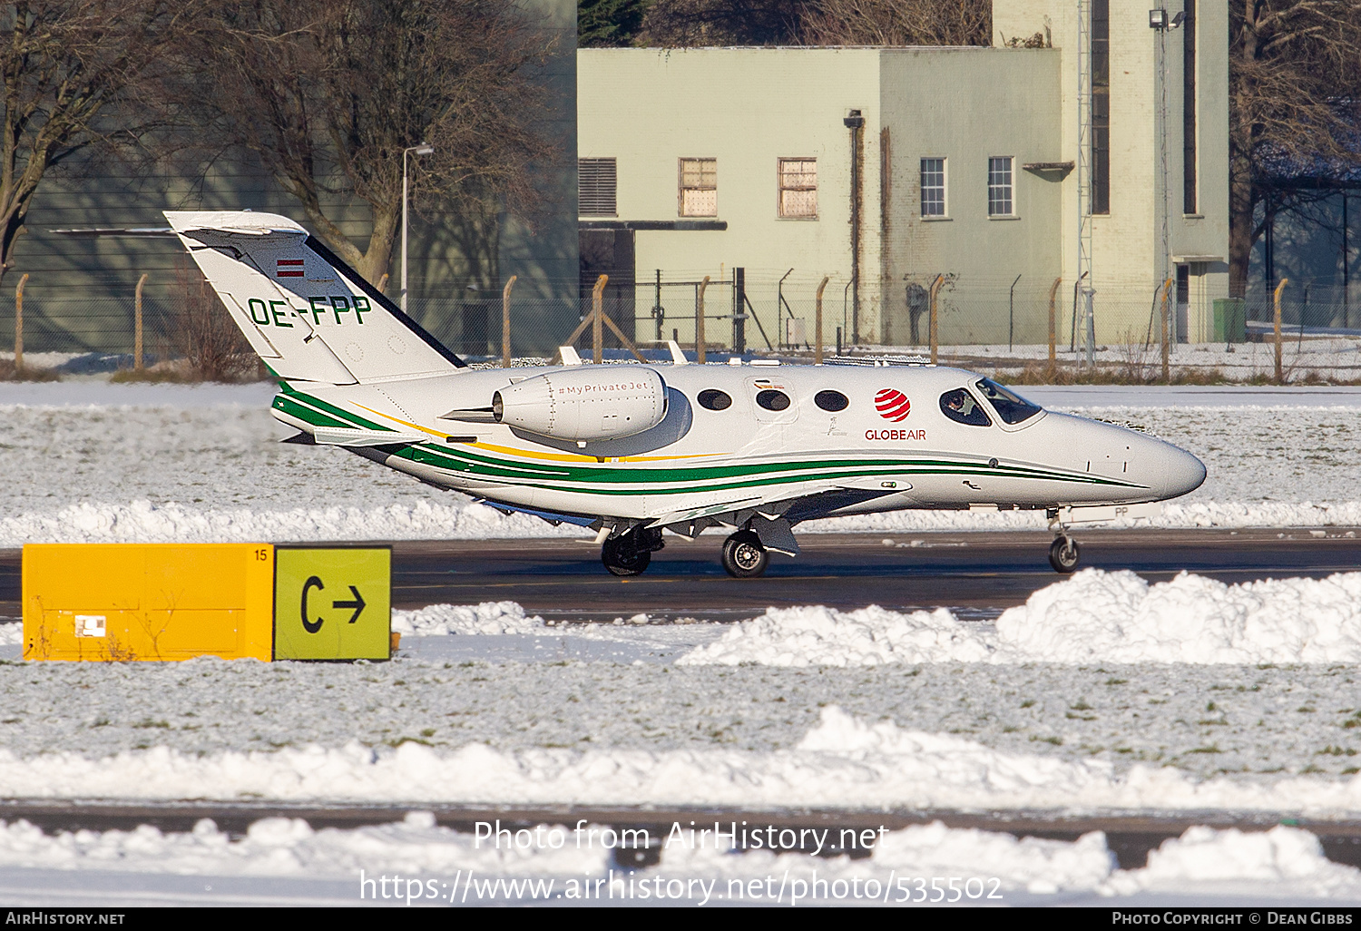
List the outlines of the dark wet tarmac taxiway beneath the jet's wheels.
{"label": "dark wet tarmac taxiway beneath the jet's wheels", "polygon": [[[1347,536],[1347,534],[1351,536]],[[1361,528],[1075,529],[1079,568],[1132,569],[1149,581],[1179,572],[1224,583],[1361,569]],[[563,621],[646,612],[736,621],[768,607],[841,610],[960,608],[992,617],[1059,578],[1048,532],[802,534],[796,558],[773,554],[761,578],[729,578],[723,535],[666,538],[640,576],[617,578],[589,539],[429,540],[392,543],[392,603],[519,602]],[[20,550],[0,550],[0,618],[20,615]]]}

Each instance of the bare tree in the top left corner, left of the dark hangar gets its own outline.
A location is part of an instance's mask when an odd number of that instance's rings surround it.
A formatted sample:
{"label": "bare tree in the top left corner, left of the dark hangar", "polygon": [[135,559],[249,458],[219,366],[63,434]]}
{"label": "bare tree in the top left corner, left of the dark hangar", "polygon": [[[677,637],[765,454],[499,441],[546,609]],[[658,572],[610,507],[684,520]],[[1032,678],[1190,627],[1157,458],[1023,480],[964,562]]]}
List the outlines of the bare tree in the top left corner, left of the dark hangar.
{"label": "bare tree in the top left corner, left of the dark hangar", "polygon": [[199,0],[0,4],[0,278],[49,169],[167,125],[155,87]]}

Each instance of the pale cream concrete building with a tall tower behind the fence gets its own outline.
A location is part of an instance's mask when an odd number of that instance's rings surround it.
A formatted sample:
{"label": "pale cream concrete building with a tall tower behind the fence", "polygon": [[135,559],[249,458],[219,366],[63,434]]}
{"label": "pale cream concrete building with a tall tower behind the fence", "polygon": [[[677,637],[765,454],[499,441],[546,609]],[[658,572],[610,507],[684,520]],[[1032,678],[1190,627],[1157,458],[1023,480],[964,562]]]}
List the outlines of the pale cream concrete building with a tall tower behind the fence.
{"label": "pale cream concrete building with a tall tower behind the fence", "polygon": [[1142,342],[1172,278],[1179,336],[1211,339],[1228,23],[1185,3],[1150,29],[1146,7],[1010,0],[988,49],[583,49],[584,283],[621,283],[640,339],[693,339],[695,282],[731,314],[740,268],[762,347],[811,339],[823,276],[827,340],[887,344],[924,342],[938,279],[942,342],[1043,342],[1053,289],[1067,343],[1089,287],[1096,339]]}

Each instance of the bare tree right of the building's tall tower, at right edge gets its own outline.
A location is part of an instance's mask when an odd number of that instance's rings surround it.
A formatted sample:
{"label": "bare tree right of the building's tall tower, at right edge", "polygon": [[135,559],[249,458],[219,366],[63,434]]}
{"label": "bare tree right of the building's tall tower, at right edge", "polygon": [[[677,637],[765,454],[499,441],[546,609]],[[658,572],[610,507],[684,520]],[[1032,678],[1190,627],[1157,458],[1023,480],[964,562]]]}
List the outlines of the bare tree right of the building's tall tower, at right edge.
{"label": "bare tree right of the building's tall tower, at right edge", "polygon": [[[1229,293],[1241,297],[1271,176],[1361,162],[1361,3],[1237,0],[1229,44]],[[1264,214],[1289,207],[1273,201]]]}

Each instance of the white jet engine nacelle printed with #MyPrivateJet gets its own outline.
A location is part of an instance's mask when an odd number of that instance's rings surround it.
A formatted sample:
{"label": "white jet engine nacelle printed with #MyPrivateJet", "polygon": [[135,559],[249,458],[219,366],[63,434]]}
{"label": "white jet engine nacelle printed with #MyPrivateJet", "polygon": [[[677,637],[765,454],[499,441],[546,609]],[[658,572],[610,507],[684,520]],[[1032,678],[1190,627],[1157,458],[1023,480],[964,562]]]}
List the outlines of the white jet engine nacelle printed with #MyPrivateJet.
{"label": "white jet engine nacelle printed with #MyPrivateJet", "polygon": [[491,396],[497,423],[554,440],[619,440],[651,430],[667,415],[667,385],[632,365],[563,369]]}

